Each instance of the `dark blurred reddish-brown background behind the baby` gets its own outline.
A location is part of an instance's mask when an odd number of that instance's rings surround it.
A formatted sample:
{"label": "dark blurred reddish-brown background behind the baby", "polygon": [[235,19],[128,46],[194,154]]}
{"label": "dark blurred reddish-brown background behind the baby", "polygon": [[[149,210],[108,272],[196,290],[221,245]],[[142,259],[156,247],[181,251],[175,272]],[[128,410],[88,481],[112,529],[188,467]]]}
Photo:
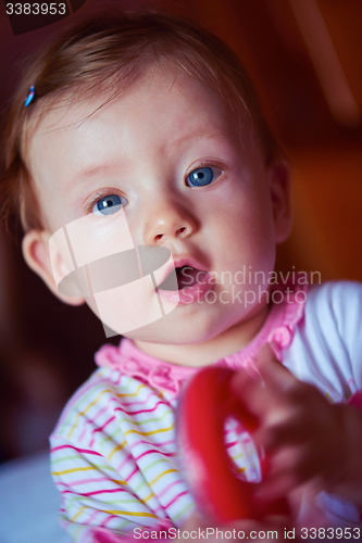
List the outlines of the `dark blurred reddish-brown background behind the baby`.
{"label": "dark blurred reddish-brown background behind the baby", "polygon": [[[73,12],[76,2],[66,3]],[[278,250],[278,269],[295,266],[319,270],[323,280],[362,280],[360,0],[80,4],[66,18],[14,36],[5,2],[0,2],[0,125],[24,54],[71,17],[139,8],[188,16],[239,54],[290,160],[295,226]],[[62,304],[27,269],[21,237],[15,226],[12,237],[0,229],[0,460],[48,446],[63,404],[96,368],[93,353],[107,341],[89,310]]]}

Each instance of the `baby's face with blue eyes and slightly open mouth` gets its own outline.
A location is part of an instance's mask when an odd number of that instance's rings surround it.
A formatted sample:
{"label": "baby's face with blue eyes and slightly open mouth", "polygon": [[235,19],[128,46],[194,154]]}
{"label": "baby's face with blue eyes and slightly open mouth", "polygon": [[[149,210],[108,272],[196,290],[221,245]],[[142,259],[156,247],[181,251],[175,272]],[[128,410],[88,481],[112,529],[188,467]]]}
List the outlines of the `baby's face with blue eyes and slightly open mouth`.
{"label": "baby's face with blue eyes and slightly open mouth", "polygon": [[[170,258],[145,281],[89,294],[90,307],[118,333],[174,344],[207,341],[264,308],[248,273],[273,269],[284,232],[273,173],[249,123],[241,140],[229,111],[186,76],[153,74],[96,111],[103,102],[48,114],[33,139],[30,168],[48,228],[67,225],[79,266],[165,248],[180,268],[179,290],[163,283]],[[70,270],[62,241],[57,250]]]}

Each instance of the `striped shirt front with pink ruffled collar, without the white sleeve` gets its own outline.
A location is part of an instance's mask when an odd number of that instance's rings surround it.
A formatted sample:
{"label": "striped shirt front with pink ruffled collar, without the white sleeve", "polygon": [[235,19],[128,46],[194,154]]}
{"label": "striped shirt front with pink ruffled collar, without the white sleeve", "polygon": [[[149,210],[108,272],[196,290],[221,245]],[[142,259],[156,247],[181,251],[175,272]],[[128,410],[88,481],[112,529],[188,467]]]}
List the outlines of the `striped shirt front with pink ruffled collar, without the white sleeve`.
{"label": "striped shirt front with pink ruffled collar, without the white sleeve", "polygon": [[[257,337],[215,364],[251,371],[264,343],[279,358],[303,311],[292,296],[275,304]],[[61,523],[79,543],[111,541],[104,532],[125,540],[135,528],[180,528],[195,502],[183,477],[175,412],[179,390],[197,368],[152,358],[126,338],[117,348],[103,345],[96,362],[99,369],[67,403],[50,438]],[[250,437],[236,421],[225,426],[225,444],[236,471],[260,480]]]}

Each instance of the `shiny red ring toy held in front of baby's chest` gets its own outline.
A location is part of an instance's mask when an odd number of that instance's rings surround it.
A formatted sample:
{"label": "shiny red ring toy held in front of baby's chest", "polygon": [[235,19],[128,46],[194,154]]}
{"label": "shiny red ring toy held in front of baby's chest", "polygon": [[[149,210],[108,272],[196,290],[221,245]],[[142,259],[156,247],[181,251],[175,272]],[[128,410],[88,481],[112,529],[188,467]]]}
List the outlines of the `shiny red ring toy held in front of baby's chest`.
{"label": "shiny red ring toy held in front of baby's chest", "polygon": [[[208,367],[196,374],[182,396],[178,413],[178,439],[187,481],[199,508],[221,522],[269,515],[289,516],[286,498],[261,505],[253,497],[257,483],[240,479],[224,445],[224,426],[228,417],[239,420],[252,433],[257,418],[233,390],[235,371]],[[262,473],[265,460],[261,459]]]}

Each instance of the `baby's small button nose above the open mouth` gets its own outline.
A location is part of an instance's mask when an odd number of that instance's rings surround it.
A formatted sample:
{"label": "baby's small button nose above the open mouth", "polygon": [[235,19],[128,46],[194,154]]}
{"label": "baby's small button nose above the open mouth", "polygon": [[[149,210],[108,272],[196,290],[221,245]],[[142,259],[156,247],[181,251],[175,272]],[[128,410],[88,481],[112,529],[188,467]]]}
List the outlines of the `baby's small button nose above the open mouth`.
{"label": "baby's small button nose above the open mouth", "polygon": [[145,244],[154,244],[170,238],[187,238],[197,230],[197,220],[190,210],[177,201],[152,204],[145,223]]}

